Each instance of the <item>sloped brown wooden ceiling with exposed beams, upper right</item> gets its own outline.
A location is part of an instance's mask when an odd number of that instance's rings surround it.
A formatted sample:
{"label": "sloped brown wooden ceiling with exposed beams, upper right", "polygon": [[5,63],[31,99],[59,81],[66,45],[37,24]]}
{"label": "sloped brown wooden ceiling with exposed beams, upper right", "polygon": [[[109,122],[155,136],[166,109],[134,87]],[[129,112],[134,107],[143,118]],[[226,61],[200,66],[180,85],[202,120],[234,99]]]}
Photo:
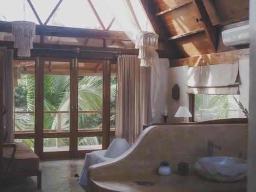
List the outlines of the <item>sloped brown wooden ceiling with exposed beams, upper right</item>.
{"label": "sloped brown wooden ceiling with exposed beams, upper right", "polygon": [[[170,58],[218,52],[221,26],[247,20],[249,0],[141,0]],[[148,5],[147,5],[148,4]]]}

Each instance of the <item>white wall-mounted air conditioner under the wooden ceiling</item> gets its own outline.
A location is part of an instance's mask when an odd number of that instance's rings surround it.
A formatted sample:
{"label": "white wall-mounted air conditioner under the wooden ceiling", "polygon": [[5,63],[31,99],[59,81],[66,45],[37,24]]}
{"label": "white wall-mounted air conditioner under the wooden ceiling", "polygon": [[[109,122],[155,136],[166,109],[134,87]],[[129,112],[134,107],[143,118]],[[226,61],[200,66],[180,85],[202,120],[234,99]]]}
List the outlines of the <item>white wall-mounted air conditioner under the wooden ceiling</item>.
{"label": "white wall-mounted air conditioner under the wooden ceiling", "polygon": [[225,46],[237,46],[250,42],[249,25],[222,31],[222,40]]}

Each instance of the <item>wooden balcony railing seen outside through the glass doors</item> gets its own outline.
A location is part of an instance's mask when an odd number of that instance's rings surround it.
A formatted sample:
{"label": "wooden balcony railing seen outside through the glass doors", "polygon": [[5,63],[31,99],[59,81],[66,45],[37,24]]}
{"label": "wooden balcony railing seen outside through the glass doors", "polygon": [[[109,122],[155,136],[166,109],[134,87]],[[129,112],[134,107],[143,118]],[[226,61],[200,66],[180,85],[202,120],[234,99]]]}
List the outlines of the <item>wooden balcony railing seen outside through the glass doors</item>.
{"label": "wooden balcony railing seen outside through the glass doors", "polygon": [[[15,114],[34,114],[34,111],[15,111]],[[62,114],[67,114],[70,113],[70,111],[44,111],[44,114],[57,114],[57,124],[56,124],[56,129],[54,130],[45,130],[44,133],[61,133],[61,132],[69,132],[67,129],[61,129],[61,116]],[[101,114],[102,111],[78,111],[78,113],[83,113],[83,114]],[[110,111],[110,114],[115,114],[115,111]],[[78,129],[78,132],[99,132],[102,131],[102,129]],[[114,128],[111,128],[111,131],[115,131]],[[15,133],[34,133],[34,130],[20,130],[20,131],[15,131]],[[61,147],[61,138],[56,138],[56,145],[57,147]]]}

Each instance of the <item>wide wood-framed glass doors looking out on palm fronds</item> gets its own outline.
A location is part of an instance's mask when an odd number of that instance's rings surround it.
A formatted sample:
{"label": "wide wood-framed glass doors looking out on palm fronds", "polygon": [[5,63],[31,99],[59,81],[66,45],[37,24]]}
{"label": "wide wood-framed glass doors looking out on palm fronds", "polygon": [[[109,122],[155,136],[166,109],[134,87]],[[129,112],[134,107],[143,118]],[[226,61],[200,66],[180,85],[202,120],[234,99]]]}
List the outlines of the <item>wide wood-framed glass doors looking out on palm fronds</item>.
{"label": "wide wood-framed glass doors looking out on palm fronds", "polygon": [[26,142],[40,157],[81,157],[113,140],[115,62],[14,60],[13,83],[15,141]]}

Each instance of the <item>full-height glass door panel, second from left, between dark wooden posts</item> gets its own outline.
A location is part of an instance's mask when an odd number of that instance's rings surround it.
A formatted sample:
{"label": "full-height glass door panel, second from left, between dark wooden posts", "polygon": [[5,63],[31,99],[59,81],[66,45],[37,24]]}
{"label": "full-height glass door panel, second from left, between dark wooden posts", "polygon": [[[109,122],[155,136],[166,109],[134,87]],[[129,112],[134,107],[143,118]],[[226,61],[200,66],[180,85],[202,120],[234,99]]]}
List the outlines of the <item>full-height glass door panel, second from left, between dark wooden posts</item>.
{"label": "full-height glass door panel, second from left, between dark wooden posts", "polygon": [[70,59],[44,59],[44,157],[70,150]]}

